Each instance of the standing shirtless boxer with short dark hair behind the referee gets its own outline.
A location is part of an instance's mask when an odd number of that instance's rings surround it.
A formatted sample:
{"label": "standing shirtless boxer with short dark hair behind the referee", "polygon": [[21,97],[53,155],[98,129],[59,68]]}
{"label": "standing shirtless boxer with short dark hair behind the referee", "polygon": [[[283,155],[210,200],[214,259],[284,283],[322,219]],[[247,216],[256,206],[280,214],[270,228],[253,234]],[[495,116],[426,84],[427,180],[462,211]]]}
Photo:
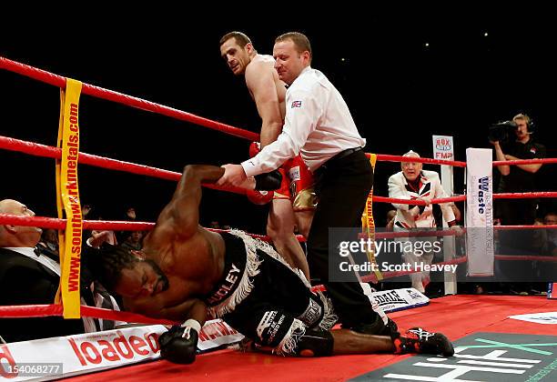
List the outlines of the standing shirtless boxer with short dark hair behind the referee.
{"label": "standing shirtless boxer with short dark hair behind the referee", "polygon": [[[219,44],[220,55],[227,61],[232,73],[245,76],[249,94],[256,103],[262,121],[261,146],[267,146],[277,140],[282,131],[286,114],[284,106],[286,87],[279,80],[279,75],[274,68],[275,60],[271,55],[259,55],[251,44],[249,37],[240,32],[230,32],[224,35]],[[254,148],[253,145],[250,147],[250,154],[252,155],[256,155],[258,152]],[[282,174],[282,184],[274,192],[268,213],[267,234],[272,239],[279,254],[287,260],[289,265],[301,269],[309,279],[308,262],[294,235],[294,224],[297,223],[302,235],[308,235],[313,209],[315,208],[313,206],[315,201],[311,196],[315,194],[306,190],[303,193],[306,196],[305,199],[301,196],[298,198],[298,202],[294,199],[294,206],[298,206],[299,211],[295,216],[292,202],[289,200],[295,197],[290,193],[291,183],[299,183],[299,175],[306,175],[304,181],[312,183],[311,180],[307,180],[307,176],[310,176],[309,169],[301,159],[299,164],[304,167],[301,171],[296,170],[295,166],[283,166],[279,169]],[[304,169],[306,170],[304,171]],[[298,176],[292,179],[292,182],[290,182],[289,172],[292,172],[292,176]],[[309,188],[309,186],[306,186],[306,188]],[[305,201],[303,206],[301,204],[302,200]],[[297,217],[298,221],[295,221]]]}

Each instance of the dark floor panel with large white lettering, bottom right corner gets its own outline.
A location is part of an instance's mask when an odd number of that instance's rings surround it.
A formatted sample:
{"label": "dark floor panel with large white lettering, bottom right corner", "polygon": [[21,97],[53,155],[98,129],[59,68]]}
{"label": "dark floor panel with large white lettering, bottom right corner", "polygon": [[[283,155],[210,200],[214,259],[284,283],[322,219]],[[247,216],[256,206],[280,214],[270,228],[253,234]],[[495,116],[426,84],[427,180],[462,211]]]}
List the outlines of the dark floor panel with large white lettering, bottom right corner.
{"label": "dark floor panel with large white lettering, bottom right corner", "polygon": [[350,381],[557,380],[557,337],[474,333],[454,343],[454,357],[417,355]]}

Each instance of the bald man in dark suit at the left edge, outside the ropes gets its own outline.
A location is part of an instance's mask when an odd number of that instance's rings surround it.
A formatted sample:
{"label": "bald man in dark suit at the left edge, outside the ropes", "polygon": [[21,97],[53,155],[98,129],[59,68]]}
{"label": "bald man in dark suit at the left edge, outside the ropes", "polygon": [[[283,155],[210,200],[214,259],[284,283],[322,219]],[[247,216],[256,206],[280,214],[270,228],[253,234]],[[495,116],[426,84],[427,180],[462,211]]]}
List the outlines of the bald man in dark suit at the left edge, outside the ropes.
{"label": "bald man in dark suit at the left edge, outside the ropes", "polygon": [[[12,199],[0,201],[0,214],[35,216]],[[0,306],[54,303],[60,265],[56,258],[37,250],[41,232],[35,226],[0,226]],[[91,318],[0,318],[0,337],[5,342],[26,341],[94,331],[95,327]]]}

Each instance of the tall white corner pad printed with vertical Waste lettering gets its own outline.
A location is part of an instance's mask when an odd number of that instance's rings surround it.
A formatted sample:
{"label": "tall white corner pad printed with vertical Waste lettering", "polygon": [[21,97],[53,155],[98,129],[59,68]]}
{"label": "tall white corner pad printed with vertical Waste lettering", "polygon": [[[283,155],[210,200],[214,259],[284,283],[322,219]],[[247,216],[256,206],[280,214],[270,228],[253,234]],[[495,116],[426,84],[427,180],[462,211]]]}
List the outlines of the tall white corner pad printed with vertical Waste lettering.
{"label": "tall white corner pad printed with vertical Waste lettering", "polygon": [[468,276],[493,276],[493,164],[491,158],[491,149],[466,149]]}

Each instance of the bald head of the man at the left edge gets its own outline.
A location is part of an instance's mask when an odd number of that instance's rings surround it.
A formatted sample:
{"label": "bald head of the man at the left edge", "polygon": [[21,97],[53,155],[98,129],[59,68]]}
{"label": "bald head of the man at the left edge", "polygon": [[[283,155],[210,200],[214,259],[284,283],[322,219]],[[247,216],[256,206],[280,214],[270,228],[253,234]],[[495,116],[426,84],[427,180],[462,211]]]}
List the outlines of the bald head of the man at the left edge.
{"label": "bald head of the man at the left edge", "polygon": [[[14,199],[0,200],[0,214],[35,216],[27,206]],[[41,232],[41,228],[35,226],[0,226],[0,246],[36,246]]]}

